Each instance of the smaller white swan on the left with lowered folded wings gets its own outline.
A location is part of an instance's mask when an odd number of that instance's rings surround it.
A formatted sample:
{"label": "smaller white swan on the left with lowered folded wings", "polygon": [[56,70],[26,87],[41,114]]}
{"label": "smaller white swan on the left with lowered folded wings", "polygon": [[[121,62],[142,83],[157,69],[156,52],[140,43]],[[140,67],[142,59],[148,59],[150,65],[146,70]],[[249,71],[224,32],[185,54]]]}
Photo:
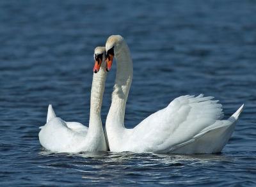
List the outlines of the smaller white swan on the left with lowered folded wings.
{"label": "smaller white swan on the left with lowered folded wings", "polygon": [[45,149],[55,153],[108,150],[100,118],[107,74],[105,54],[105,47],[95,49],[93,72],[100,71],[97,74],[93,73],[89,128],[81,123],[65,122],[60,117],[56,117],[52,106],[49,105],[47,123],[40,127],[39,132],[40,144]]}

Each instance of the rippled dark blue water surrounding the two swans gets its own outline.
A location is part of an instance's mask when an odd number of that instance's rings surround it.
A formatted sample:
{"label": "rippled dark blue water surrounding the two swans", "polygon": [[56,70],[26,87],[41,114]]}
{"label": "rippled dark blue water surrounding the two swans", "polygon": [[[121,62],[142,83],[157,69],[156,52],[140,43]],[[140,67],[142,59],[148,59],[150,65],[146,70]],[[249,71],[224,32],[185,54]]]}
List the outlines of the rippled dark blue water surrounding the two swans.
{"label": "rippled dark blue water surrounding the two swans", "polygon": [[[0,1],[0,184],[255,186],[256,1]],[[88,124],[93,49],[122,34],[134,60],[125,124],[177,96],[245,103],[221,154],[52,154],[38,127],[52,103]],[[108,74],[105,121],[115,77]]]}

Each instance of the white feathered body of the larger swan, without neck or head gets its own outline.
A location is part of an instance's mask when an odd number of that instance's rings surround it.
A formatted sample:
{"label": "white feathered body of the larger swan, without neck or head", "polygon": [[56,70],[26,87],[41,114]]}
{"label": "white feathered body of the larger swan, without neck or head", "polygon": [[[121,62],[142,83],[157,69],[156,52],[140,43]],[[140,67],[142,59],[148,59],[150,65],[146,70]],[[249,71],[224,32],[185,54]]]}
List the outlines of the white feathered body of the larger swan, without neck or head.
{"label": "white feathered body of the larger swan, without neck or head", "polygon": [[168,107],[148,116],[134,128],[123,128],[114,137],[108,134],[111,151],[220,152],[232,135],[243,106],[237,110],[236,116],[221,120],[221,104],[211,99],[202,94],[176,98]]}

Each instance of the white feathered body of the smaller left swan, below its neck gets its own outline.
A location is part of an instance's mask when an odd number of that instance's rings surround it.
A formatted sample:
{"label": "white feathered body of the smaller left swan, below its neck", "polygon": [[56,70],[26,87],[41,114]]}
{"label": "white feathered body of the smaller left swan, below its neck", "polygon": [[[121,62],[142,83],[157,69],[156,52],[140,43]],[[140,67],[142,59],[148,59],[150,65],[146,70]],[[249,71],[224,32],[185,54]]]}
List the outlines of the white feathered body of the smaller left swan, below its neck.
{"label": "white feathered body of the smaller left swan, below its neck", "polygon": [[[50,105],[49,111],[51,110]],[[99,128],[90,132],[88,127],[83,124],[65,122],[60,117],[52,117],[52,119],[41,127],[39,140],[45,149],[54,153],[107,150],[103,130]]]}

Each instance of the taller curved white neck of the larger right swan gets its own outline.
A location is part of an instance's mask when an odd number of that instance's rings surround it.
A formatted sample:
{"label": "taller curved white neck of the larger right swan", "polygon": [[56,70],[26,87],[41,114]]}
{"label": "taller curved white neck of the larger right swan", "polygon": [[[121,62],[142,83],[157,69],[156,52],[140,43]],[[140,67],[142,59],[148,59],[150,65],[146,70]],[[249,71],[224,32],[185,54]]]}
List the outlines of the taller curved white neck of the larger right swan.
{"label": "taller curved white neck of the larger right swan", "polygon": [[116,79],[112,93],[111,107],[106,120],[106,128],[124,128],[125,105],[132,83],[132,59],[129,47],[123,40],[115,49]]}

